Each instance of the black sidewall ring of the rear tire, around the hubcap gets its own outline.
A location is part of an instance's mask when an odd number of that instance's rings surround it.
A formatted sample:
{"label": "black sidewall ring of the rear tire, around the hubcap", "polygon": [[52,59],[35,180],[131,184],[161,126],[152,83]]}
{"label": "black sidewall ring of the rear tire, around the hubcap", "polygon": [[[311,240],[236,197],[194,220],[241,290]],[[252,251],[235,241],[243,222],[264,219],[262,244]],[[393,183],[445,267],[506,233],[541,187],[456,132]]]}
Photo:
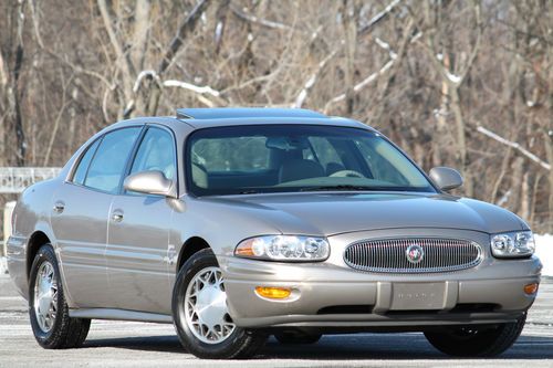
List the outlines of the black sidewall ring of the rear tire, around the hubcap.
{"label": "black sidewall ring of the rear tire, around the hubcap", "polygon": [[[34,287],[36,283],[39,267],[46,261],[52,264],[58,281],[58,305],[56,305],[54,325],[48,333],[44,333],[40,328],[34,311]],[[62,324],[62,316],[63,316],[62,308],[64,307],[63,301],[64,301],[63,284],[54,249],[52,248],[51,244],[45,244],[39,250],[39,252],[34,256],[34,261],[31,266],[31,273],[29,275],[29,316],[31,319],[31,327],[34,337],[36,338],[36,341],[43,347],[46,347],[52,343],[52,340],[55,338],[55,332],[61,328],[60,325]]]}

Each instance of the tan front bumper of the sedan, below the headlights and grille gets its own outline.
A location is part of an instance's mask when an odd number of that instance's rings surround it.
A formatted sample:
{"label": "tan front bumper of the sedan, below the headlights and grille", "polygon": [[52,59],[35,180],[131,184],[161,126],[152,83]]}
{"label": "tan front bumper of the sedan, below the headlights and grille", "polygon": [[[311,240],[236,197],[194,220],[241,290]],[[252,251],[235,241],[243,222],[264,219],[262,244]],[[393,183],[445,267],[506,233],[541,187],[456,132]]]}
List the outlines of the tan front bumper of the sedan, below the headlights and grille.
{"label": "tan front bumper of the sedan, below the headlights and grille", "polygon": [[[488,242],[486,234],[459,232],[459,236],[480,244]],[[219,263],[234,323],[253,328],[416,329],[514,322],[534,302],[535,294],[526,295],[523,287],[540,282],[541,263],[535,256],[497,260],[486,254],[481,264],[459,272],[377,274],[355,271],[345,264],[342,254],[351,236],[331,238],[331,257],[321,263],[221,256]],[[289,287],[293,292],[285,299],[268,299],[255,294],[257,286]]]}

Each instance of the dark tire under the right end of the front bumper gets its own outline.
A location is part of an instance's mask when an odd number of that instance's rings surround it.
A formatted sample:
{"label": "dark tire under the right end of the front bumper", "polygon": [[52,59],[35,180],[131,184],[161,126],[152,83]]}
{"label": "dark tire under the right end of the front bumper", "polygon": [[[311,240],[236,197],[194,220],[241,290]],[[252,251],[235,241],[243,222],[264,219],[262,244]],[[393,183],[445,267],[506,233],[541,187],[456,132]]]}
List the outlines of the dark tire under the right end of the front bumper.
{"label": "dark tire under the right end of the front bumper", "polygon": [[515,323],[487,327],[449,327],[426,332],[425,336],[435,348],[450,356],[494,357],[514,344],[525,320],[526,314]]}

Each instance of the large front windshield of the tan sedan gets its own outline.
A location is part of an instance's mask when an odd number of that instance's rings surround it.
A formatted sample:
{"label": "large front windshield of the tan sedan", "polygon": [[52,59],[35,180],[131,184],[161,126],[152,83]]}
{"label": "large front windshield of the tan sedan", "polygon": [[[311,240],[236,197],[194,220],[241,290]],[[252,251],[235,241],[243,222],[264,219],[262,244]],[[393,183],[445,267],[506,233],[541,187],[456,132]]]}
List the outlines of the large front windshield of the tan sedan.
{"label": "large front windshield of the tan sedan", "polygon": [[435,192],[421,171],[377,133],[321,125],[199,129],[187,145],[196,196],[320,190]]}

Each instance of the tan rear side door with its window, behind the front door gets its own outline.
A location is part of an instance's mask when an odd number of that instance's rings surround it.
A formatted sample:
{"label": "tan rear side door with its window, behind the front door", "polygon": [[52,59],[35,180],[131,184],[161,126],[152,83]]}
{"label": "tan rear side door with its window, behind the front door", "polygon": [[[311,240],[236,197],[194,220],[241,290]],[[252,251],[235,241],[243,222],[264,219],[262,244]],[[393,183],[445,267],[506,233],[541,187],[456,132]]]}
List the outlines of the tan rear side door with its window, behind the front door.
{"label": "tan rear side door with its window, behind the front door", "polygon": [[71,301],[109,307],[104,252],[107,218],[140,127],[109,132],[81,156],[71,180],[53,196],[51,223]]}

